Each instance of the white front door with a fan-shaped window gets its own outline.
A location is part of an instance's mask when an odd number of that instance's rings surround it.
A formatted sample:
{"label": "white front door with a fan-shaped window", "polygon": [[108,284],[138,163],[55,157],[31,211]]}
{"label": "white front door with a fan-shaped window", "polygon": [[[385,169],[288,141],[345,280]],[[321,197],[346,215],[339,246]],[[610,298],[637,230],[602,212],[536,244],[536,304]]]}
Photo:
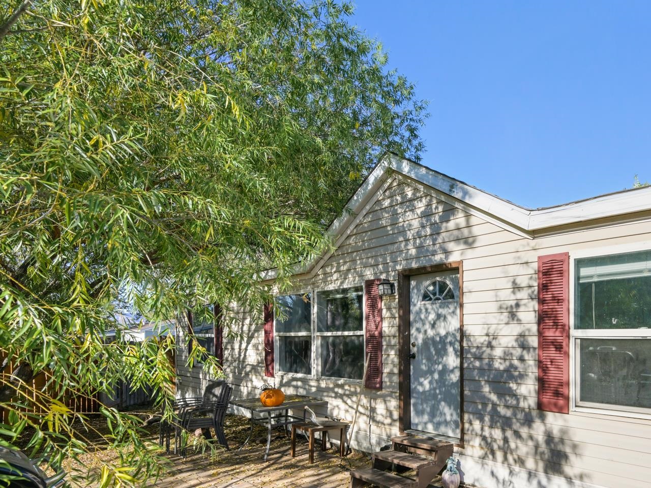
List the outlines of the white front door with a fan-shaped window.
{"label": "white front door with a fan-shaped window", "polygon": [[411,429],[460,432],[459,273],[409,278]]}

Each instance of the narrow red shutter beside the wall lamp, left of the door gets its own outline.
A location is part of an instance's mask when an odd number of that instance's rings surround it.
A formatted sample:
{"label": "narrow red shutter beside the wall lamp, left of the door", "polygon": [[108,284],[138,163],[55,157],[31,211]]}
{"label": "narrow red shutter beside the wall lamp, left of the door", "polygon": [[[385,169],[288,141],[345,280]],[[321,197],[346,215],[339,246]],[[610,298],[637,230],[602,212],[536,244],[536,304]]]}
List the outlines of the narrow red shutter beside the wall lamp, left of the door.
{"label": "narrow red shutter beside the wall lamp, left of the door", "polygon": [[378,293],[380,282],[381,279],[366,280],[364,284],[367,343],[365,356],[368,357],[365,386],[375,390],[382,389],[382,301]]}

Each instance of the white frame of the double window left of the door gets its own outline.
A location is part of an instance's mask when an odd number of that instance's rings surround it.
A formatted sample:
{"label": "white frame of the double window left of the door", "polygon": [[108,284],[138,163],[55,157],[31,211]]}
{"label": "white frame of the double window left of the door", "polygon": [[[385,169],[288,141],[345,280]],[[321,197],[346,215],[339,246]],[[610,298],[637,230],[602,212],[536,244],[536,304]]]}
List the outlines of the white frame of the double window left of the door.
{"label": "white frame of the double window left of the door", "polygon": [[[364,338],[364,351],[366,351],[366,286],[365,283],[362,282],[361,284],[359,282],[353,282],[353,283],[347,283],[347,284],[342,284],[342,285],[331,285],[331,286],[324,286],[322,288],[311,288],[309,290],[299,290],[299,291],[290,291],[287,293],[282,293],[278,295],[274,295],[273,299],[277,299],[278,297],[284,297],[287,295],[304,295],[305,293],[309,293],[311,296],[311,333],[310,338],[311,338],[311,360],[312,360],[312,373],[309,375],[303,374],[303,373],[292,373],[292,372],[286,372],[282,371],[280,369],[280,355],[278,354],[278,351],[280,351],[279,347],[279,338],[281,336],[307,336],[308,332],[277,332],[276,331],[276,314],[273,314],[273,347],[274,347],[274,355],[273,355],[273,366],[274,366],[274,371],[276,375],[282,375],[286,377],[296,377],[296,378],[303,378],[303,379],[313,379],[313,380],[318,380],[322,383],[337,383],[337,384],[350,384],[350,385],[361,385],[362,380],[361,379],[350,379],[350,378],[337,378],[333,376],[322,376],[321,375],[321,361],[320,361],[320,353],[319,351],[319,334],[316,331],[316,294],[320,291],[332,291],[332,290],[343,290],[345,288],[357,288],[361,286],[362,288],[362,330],[357,332],[339,332],[339,335],[358,335],[362,334]],[[275,305],[275,304],[274,304]],[[326,334],[327,335],[327,334]],[[365,361],[365,357],[361,358],[362,361]]]}

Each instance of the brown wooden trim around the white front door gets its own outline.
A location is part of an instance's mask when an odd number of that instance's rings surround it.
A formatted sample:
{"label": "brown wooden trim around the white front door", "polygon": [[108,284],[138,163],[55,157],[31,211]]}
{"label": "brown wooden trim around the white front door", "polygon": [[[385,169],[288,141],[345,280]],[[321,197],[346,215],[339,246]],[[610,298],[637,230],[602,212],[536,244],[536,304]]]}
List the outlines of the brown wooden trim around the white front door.
{"label": "brown wooden trim around the white front door", "polygon": [[430,264],[398,270],[398,427],[404,434],[411,428],[411,368],[409,365],[409,278],[441,271],[459,272],[459,436],[456,446],[464,447],[464,264],[462,261]]}

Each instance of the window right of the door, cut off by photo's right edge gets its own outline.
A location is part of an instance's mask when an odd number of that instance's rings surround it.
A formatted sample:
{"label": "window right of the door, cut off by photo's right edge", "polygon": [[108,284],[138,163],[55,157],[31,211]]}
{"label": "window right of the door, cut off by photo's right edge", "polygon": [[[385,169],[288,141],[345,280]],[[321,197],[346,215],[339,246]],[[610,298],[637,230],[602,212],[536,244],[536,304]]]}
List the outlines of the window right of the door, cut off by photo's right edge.
{"label": "window right of the door, cut off by photo's right edge", "polygon": [[575,260],[579,406],[651,413],[651,251]]}

